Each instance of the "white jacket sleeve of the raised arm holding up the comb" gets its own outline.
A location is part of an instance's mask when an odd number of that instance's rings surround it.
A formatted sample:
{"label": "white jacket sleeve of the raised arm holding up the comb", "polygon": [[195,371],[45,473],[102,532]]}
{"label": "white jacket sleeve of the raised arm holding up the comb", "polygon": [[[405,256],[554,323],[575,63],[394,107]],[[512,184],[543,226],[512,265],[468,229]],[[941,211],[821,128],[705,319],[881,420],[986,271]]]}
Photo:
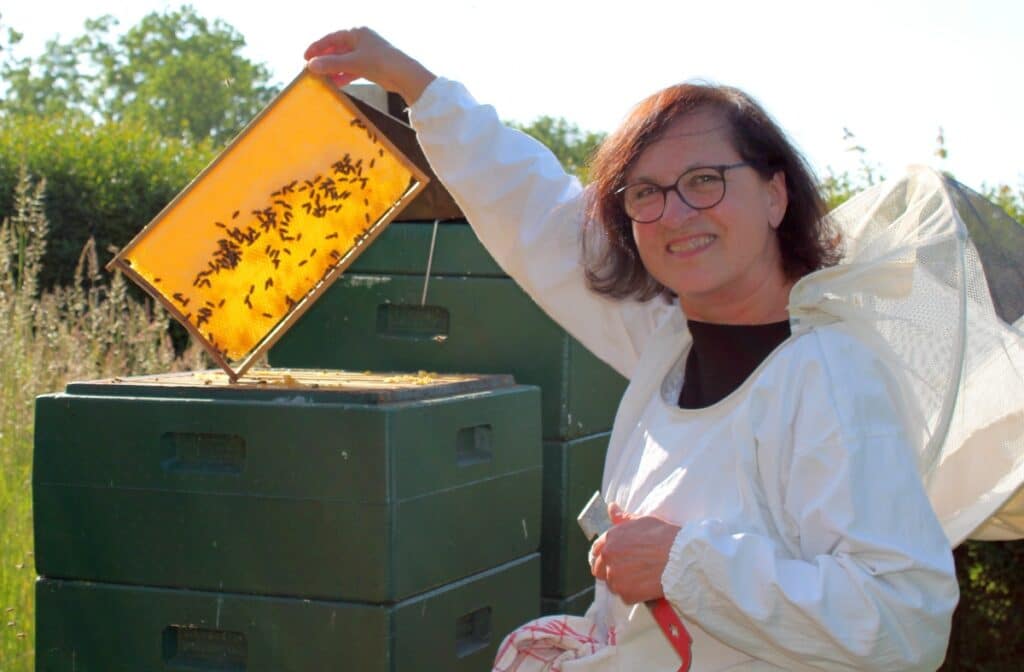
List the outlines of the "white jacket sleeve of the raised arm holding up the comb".
{"label": "white jacket sleeve of the raised arm holding up the comb", "polygon": [[410,119],[431,168],[499,265],[584,346],[629,377],[656,325],[679,308],[660,298],[616,301],[587,289],[579,180],[456,82],[434,80]]}

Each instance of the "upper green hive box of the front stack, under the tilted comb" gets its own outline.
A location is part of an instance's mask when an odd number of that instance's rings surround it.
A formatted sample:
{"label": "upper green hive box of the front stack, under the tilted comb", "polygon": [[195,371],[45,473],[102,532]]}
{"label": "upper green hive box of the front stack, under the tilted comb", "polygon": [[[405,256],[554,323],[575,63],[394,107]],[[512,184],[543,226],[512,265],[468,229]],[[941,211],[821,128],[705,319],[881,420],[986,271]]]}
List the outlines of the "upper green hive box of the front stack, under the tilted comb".
{"label": "upper green hive box of the front stack, under the tilted comb", "polygon": [[537,388],[341,372],[224,381],[39,397],[40,575],[394,602],[537,550]]}

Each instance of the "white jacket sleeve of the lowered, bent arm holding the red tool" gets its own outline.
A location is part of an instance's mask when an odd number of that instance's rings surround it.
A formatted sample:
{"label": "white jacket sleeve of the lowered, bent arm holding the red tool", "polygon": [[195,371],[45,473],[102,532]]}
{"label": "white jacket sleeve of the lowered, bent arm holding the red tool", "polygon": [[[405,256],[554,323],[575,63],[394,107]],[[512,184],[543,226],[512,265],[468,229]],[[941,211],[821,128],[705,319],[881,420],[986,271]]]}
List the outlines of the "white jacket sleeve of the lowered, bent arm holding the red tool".
{"label": "white jacket sleeve of the lowered, bent arm holding the red tool", "polygon": [[794,412],[766,402],[754,420],[770,427],[757,460],[775,531],[684,524],[666,596],[716,638],[783,669],[935,670],[958,588],[898,398],[854,339],[804,338],[777,389]]}

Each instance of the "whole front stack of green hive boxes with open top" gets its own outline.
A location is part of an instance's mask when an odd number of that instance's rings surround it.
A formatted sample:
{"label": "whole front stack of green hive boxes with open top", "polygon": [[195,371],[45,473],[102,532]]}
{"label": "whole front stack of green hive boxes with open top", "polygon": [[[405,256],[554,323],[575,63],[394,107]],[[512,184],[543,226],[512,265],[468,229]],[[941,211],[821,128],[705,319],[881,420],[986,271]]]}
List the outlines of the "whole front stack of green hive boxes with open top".
{"label": "whole front stack of green hive boxes with open top", "polygon": [[482,671],[538,615],[537,388],[293,373],[38,400],[38,670]]}

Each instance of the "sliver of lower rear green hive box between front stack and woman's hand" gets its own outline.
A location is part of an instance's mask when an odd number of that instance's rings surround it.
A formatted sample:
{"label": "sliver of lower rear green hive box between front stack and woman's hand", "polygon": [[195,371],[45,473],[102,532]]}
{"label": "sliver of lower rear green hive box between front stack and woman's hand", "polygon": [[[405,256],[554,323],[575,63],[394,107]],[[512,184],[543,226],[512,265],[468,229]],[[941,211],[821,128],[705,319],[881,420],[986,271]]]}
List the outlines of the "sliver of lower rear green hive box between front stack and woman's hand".
{"label": "sliver of lower rear green hive box between front stack and woman's hand", "polygon": [[572,597],[594,585],[588,562],[591,542],[577,516],[601,488],[608,437],[605,432],[544,443],[541,588],[545,598]]}

